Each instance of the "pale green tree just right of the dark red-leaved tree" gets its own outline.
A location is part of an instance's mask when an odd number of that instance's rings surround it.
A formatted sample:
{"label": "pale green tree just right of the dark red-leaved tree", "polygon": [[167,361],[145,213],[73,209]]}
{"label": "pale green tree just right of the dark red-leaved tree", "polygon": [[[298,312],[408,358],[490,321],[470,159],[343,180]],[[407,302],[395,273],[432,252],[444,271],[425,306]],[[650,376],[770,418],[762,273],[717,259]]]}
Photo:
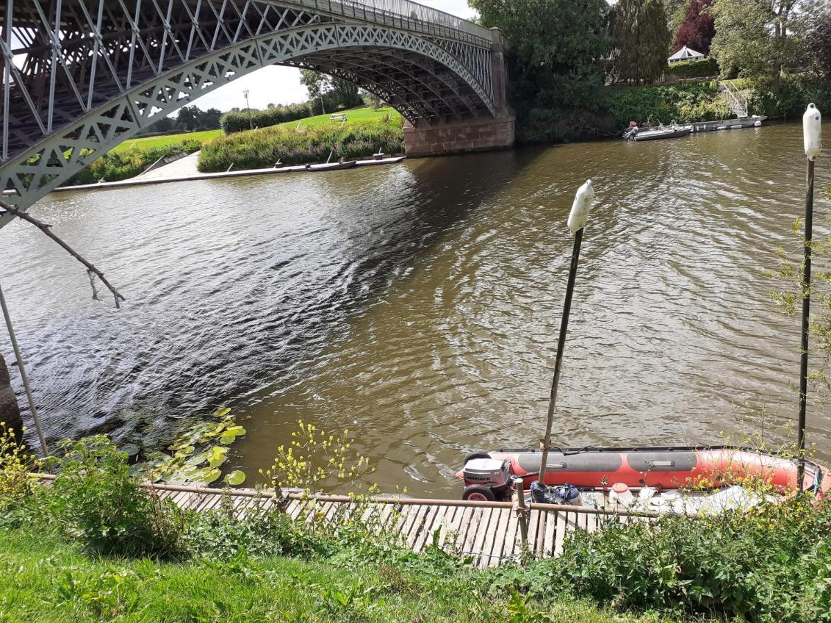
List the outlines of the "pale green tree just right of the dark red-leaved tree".
{"label": "pale green tree just right of the dark red-leaved tree", "polygon": [[779,91],[782,72],[799,58],[797,4],[797,0],[715,0],[711,54],[721,73],[765,78],[773,91]]}

